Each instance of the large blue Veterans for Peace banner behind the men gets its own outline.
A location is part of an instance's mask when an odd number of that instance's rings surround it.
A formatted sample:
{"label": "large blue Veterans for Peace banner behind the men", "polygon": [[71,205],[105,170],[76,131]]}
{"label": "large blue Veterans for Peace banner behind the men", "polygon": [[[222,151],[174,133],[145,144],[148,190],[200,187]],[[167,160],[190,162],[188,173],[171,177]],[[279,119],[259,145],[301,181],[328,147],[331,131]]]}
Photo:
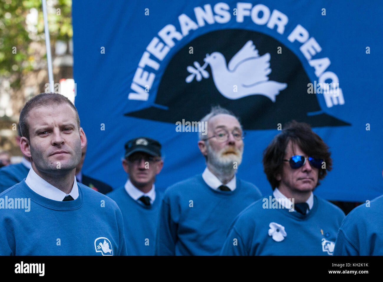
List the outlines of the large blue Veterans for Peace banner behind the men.
{"label": "large blue Veterans for Peace banner behind the men", "polygon": [[202,173],[196,122],[212,105],[246,131],[238,176],[271,192],[262,152],[306,122],[332,152],[316,195],[383,194],[381,1],[73,3],[75,106],[88,138],[84,173],[124,185],[124,143],[159,140],[156,187]]}

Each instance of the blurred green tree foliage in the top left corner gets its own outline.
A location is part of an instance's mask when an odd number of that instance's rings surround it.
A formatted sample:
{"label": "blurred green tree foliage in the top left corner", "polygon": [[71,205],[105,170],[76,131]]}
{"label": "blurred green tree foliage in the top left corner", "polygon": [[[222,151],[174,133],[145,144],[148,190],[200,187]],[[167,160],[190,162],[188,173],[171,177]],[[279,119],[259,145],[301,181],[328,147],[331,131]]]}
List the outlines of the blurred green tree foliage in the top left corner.
{"label": "blurred green tree foliage in the top left corner", "polygon": [[[56,40],[67,42],[72,38],[72,0],[47,0],[47,2],[53,3],[52,8],[48,10],[52,47]],[[37,24],[31,30],[28,29],[26,21],[27,15],[33,8],[37,10],[38,17]],[[0,76],[10,77],[16,74],[13,87],[19,87],[21,75],[31,71],[37,63],[36,60],[41,59],[39,56],[36,57],[36,52],[31,49],[31,43],[35,41],[44,44],[44,40],[41,0],[0,0]],[[52,48],[51,50],[53,51]],[[46,55],[44,57],[46,58]]]}

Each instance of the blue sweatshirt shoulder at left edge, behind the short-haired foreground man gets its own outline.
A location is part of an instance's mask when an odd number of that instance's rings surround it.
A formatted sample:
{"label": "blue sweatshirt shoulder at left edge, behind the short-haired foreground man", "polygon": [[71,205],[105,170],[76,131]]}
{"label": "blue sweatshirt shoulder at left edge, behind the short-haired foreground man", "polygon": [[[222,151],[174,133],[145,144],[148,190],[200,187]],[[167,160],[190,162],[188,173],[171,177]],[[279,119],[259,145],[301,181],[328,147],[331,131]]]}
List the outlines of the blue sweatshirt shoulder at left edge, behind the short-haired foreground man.
{"label": "blue sweatshirt shoulder at left edge, behind the short-haired foreground man", "polygon": [[7,165],[0,169],[0,193],[21,182],[28,175],[29,168],[22,163]]}

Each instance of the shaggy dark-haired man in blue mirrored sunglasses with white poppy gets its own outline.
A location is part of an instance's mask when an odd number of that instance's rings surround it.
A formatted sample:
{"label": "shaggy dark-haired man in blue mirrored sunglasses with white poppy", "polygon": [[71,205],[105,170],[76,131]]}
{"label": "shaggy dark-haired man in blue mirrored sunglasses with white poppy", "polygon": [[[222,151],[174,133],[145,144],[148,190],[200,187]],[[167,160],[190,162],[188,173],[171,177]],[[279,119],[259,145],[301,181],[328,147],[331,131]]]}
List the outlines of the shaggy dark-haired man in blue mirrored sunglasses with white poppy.
{"label": "shaggy dark-haired man in blue mirrored sunglasses with white poppy", "polygon": [[273,193],[239,214],[221,255],[332,255],[345,215],[313,195],[331,170],[326,143],[293,121],[265,149],[263,165]]}

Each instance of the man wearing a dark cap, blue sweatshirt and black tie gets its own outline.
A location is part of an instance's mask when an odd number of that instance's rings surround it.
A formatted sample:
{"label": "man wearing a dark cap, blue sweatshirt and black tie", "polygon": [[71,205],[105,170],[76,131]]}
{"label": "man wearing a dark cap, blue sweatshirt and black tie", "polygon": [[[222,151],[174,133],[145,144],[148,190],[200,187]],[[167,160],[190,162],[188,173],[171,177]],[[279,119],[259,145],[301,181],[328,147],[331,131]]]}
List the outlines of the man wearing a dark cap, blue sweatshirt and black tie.
{"label": "man wearing a dark cap, blue sweatshirt and black tie", "polygon": [[128,180],[107,196],[116,201],[123,214],[128,255],[153,256],[162,199],[154,185],[155,176],[164,166],[160,143],[147,137],[126,142],[122,166]]}

